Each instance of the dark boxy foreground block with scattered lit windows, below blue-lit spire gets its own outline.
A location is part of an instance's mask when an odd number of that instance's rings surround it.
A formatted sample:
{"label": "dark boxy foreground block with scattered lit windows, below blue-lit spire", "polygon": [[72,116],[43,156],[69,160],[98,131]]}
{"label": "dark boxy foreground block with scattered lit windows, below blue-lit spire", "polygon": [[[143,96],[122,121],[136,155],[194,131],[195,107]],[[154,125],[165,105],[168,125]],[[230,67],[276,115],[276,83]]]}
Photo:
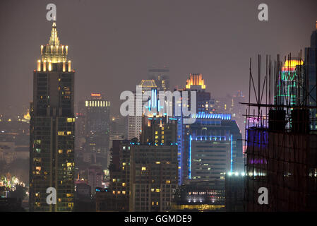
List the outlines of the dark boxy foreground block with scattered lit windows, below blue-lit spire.
{"label": "dark boxy foreground block with scattered lit windows, below blue-lit spire", "polygon": [[168,211],[177,188],[177,145],[134,145],[130,160],[130,211]]}

